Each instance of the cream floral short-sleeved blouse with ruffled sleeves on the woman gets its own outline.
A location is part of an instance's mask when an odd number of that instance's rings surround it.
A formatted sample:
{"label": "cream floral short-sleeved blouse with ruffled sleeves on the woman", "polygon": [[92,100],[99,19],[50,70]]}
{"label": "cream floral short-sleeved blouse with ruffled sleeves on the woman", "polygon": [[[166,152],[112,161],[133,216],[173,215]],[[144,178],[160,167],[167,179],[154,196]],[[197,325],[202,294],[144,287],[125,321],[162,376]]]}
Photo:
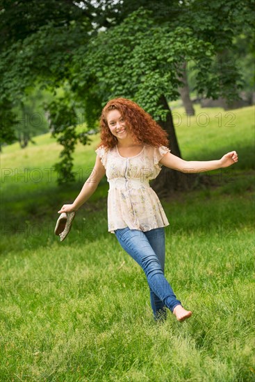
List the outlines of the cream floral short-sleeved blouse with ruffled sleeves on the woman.
{"label": "cream floral short-sleeved blouse with ruffled sleeves on the woman", "polygon": [[136,156],[124,158],[117,146],[113,149],[99,147],[96,153],[106,168],[108,190],[108,231],[129,227],[149,231],[169,225],[156,192],[149,180],[161,172],[158,163],[170,152],[167,147],[148,144]]}

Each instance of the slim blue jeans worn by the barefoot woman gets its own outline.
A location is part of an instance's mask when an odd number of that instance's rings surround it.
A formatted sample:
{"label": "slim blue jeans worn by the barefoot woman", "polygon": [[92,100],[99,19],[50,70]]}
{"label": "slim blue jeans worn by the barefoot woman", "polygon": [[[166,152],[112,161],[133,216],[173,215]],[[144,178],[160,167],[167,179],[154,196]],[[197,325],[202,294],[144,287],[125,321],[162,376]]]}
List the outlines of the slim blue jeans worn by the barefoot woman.
{"label": "slim blue jeans worn by the barefoot woman", "polygon": [[164,276],[165,231],[163,228],[150,231],[117,229],[117,240],[122,248],[142,267],[149,284],[151,308],[154,319],[165,319],[166,309],[174,310],[181,301],[176,296]]}

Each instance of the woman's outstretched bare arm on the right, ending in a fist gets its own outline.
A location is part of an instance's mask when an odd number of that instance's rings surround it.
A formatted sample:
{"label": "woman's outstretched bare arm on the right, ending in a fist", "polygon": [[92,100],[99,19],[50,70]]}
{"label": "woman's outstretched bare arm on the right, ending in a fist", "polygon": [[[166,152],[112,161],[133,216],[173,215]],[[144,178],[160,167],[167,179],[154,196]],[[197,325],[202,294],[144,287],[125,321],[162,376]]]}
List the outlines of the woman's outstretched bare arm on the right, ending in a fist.
{"label": "woman's outstretched bare arm on the right, ending in a fist", "polygon": [[170,169],[176,169],[181,172],[206,172],[212,169],[220,169],[229,167],[238,162],[238,154],[236,151],[231,151],[225,154],[219,160],[183,160],[172,153],[166,153],[159,163]]}

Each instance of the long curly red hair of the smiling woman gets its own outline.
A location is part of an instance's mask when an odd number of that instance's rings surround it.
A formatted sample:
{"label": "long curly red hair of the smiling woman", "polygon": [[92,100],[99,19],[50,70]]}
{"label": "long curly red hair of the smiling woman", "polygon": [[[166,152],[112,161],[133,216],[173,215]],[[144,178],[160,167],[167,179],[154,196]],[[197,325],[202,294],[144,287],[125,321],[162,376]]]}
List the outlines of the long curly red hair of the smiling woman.
{"label": "long curly red hair of the smiling woman", "polygon": [[137,103],[125,98],[111,99],[104,106],[100,117],[101,142],[99,147],[112,149],[117,144],[117,138],[110,132],[107,123],[107,115],[110,110],[119,110],[135,142],[149,144],[153,147],[168,147],[167,132]]}

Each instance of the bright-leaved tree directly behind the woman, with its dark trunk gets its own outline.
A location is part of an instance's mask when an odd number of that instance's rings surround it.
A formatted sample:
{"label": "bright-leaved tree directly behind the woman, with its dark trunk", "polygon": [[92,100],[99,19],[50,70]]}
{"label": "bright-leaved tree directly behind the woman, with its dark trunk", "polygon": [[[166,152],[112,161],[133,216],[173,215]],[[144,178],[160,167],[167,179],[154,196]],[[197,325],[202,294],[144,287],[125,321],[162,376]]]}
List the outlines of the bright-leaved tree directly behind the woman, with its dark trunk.
{"label": "bright-leaved tree directly behind the woman, with its dark trunk", "polygon": [[[80,59],[85,54],[86,66],[81,67]],[[101,94],[104,103],[114,97],[137,101],[165,128],[172,153],[181,156],[167,99],[179,97],[179,63],[187,56],[197,65],[197,92],[217,97],[220,74],[215,72],[213,44],[199,40],[190,28],[158,26],[151,12],[140,9],[120,25],[99,33],[85,49],[79,49],[74,57],[74,81],[70,78],[70,83],[74,92],[84,94],[88,83],[94,82],[97,85],[90,88],[90,97],[93,92]],[[233,73],[226,76],[231,81]],[[188,188],[194,178],[170,169],[163,169],[161,175],[154,188],[163,196],[173,189]]]}

